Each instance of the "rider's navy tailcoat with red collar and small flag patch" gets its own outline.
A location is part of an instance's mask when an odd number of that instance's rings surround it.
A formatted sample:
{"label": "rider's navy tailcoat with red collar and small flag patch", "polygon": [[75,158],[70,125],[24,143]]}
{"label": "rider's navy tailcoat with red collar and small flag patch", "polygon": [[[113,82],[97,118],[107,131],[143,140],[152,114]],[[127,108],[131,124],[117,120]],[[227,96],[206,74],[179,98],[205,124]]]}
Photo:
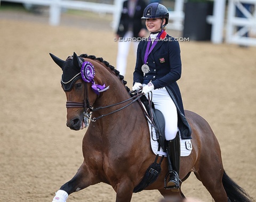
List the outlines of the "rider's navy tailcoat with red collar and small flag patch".
{"label": "rider's navy tailcoat with red collar and small flag patch", "polygon": [[151,81],[154,89],[166,87],[177,107],[178,127],[181,132],[181,138],[191,139],[191,128],[185,117],[182,97],[177,83],[181,77],[179,42],[169,35],[166,35],[163,40],[159,40],[148,56],[146,64],[149,66],[149,72],[143,73],[141,66],[144,64],[147,43],[147,40],[142,40],[138,45],[137,61],[133,72],[133,85],[135,82],[147,84]]}

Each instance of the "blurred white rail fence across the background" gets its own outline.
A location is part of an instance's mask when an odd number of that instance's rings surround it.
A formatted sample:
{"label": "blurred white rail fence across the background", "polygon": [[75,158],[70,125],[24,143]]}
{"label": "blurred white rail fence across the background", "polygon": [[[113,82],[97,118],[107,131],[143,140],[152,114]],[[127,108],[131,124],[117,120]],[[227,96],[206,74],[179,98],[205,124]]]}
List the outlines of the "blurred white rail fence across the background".
{"label": "blurred white rail fence across the background", "polygon": [[[1,1],[1,0],[0,0]],[[114,4],[92,3],[85,1],[73,0],[4,0],[6,2],[27,3],[35,5],[43,5],[50,7],[49,23],[52,26],[57,26],[61,20],[61,9],[74,9],[93,11],[98,13],[113,14],[112,27],[116,30],[118,26],[119,16],[121,14],[122,4],[124,0],[114,0]],[[207,17],[207,22],[212,24],[211,41],[215,44],[223,43],[224,22],[226,0],[213,0],[213,15]],[[254,13],[245,10],[241,3],[250,3],[254,5]],[[183,30],[183,20],[185,14],[183,12],[184,0],[175,0],[174,11],[170,11],[170,23],[167,28],[174,30]],[[235,9],[238,7],[244,13],[246,18],[237,18],[235,16]],[[236,31],[237,27],[243,27]],[[226,23],[226,42],[241,45],[256,45],[256,38],[244,37],[245,32],[256,35],[256,0],[229,0],[227,10]]]}

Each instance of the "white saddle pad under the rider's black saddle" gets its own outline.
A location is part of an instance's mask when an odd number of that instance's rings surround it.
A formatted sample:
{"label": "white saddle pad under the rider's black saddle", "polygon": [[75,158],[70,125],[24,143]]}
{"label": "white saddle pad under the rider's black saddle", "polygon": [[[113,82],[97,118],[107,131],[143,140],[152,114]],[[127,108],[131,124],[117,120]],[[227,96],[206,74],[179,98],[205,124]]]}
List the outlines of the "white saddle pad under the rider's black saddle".
{"label": "white saddle pad under the rider's black saddle", "polygon": [[[151,125],[149,125],[149,131],[151,131]],[[151,132],[150,132],[151,133]],[[163,151],[162,147],[160,148],[159,152],[158,150],[158,142],[156,141],[156,132],[155,129],[153,128],[152,130],[152,135],[150,134],[150,143],[151,143],[151,148],[154,152],[155,155],[159,154],[159,156],[166,156],[166,153]],[[191,140],[182,140],[180,139],[180,156],[189,156],[192,150],[192,144]]]}

